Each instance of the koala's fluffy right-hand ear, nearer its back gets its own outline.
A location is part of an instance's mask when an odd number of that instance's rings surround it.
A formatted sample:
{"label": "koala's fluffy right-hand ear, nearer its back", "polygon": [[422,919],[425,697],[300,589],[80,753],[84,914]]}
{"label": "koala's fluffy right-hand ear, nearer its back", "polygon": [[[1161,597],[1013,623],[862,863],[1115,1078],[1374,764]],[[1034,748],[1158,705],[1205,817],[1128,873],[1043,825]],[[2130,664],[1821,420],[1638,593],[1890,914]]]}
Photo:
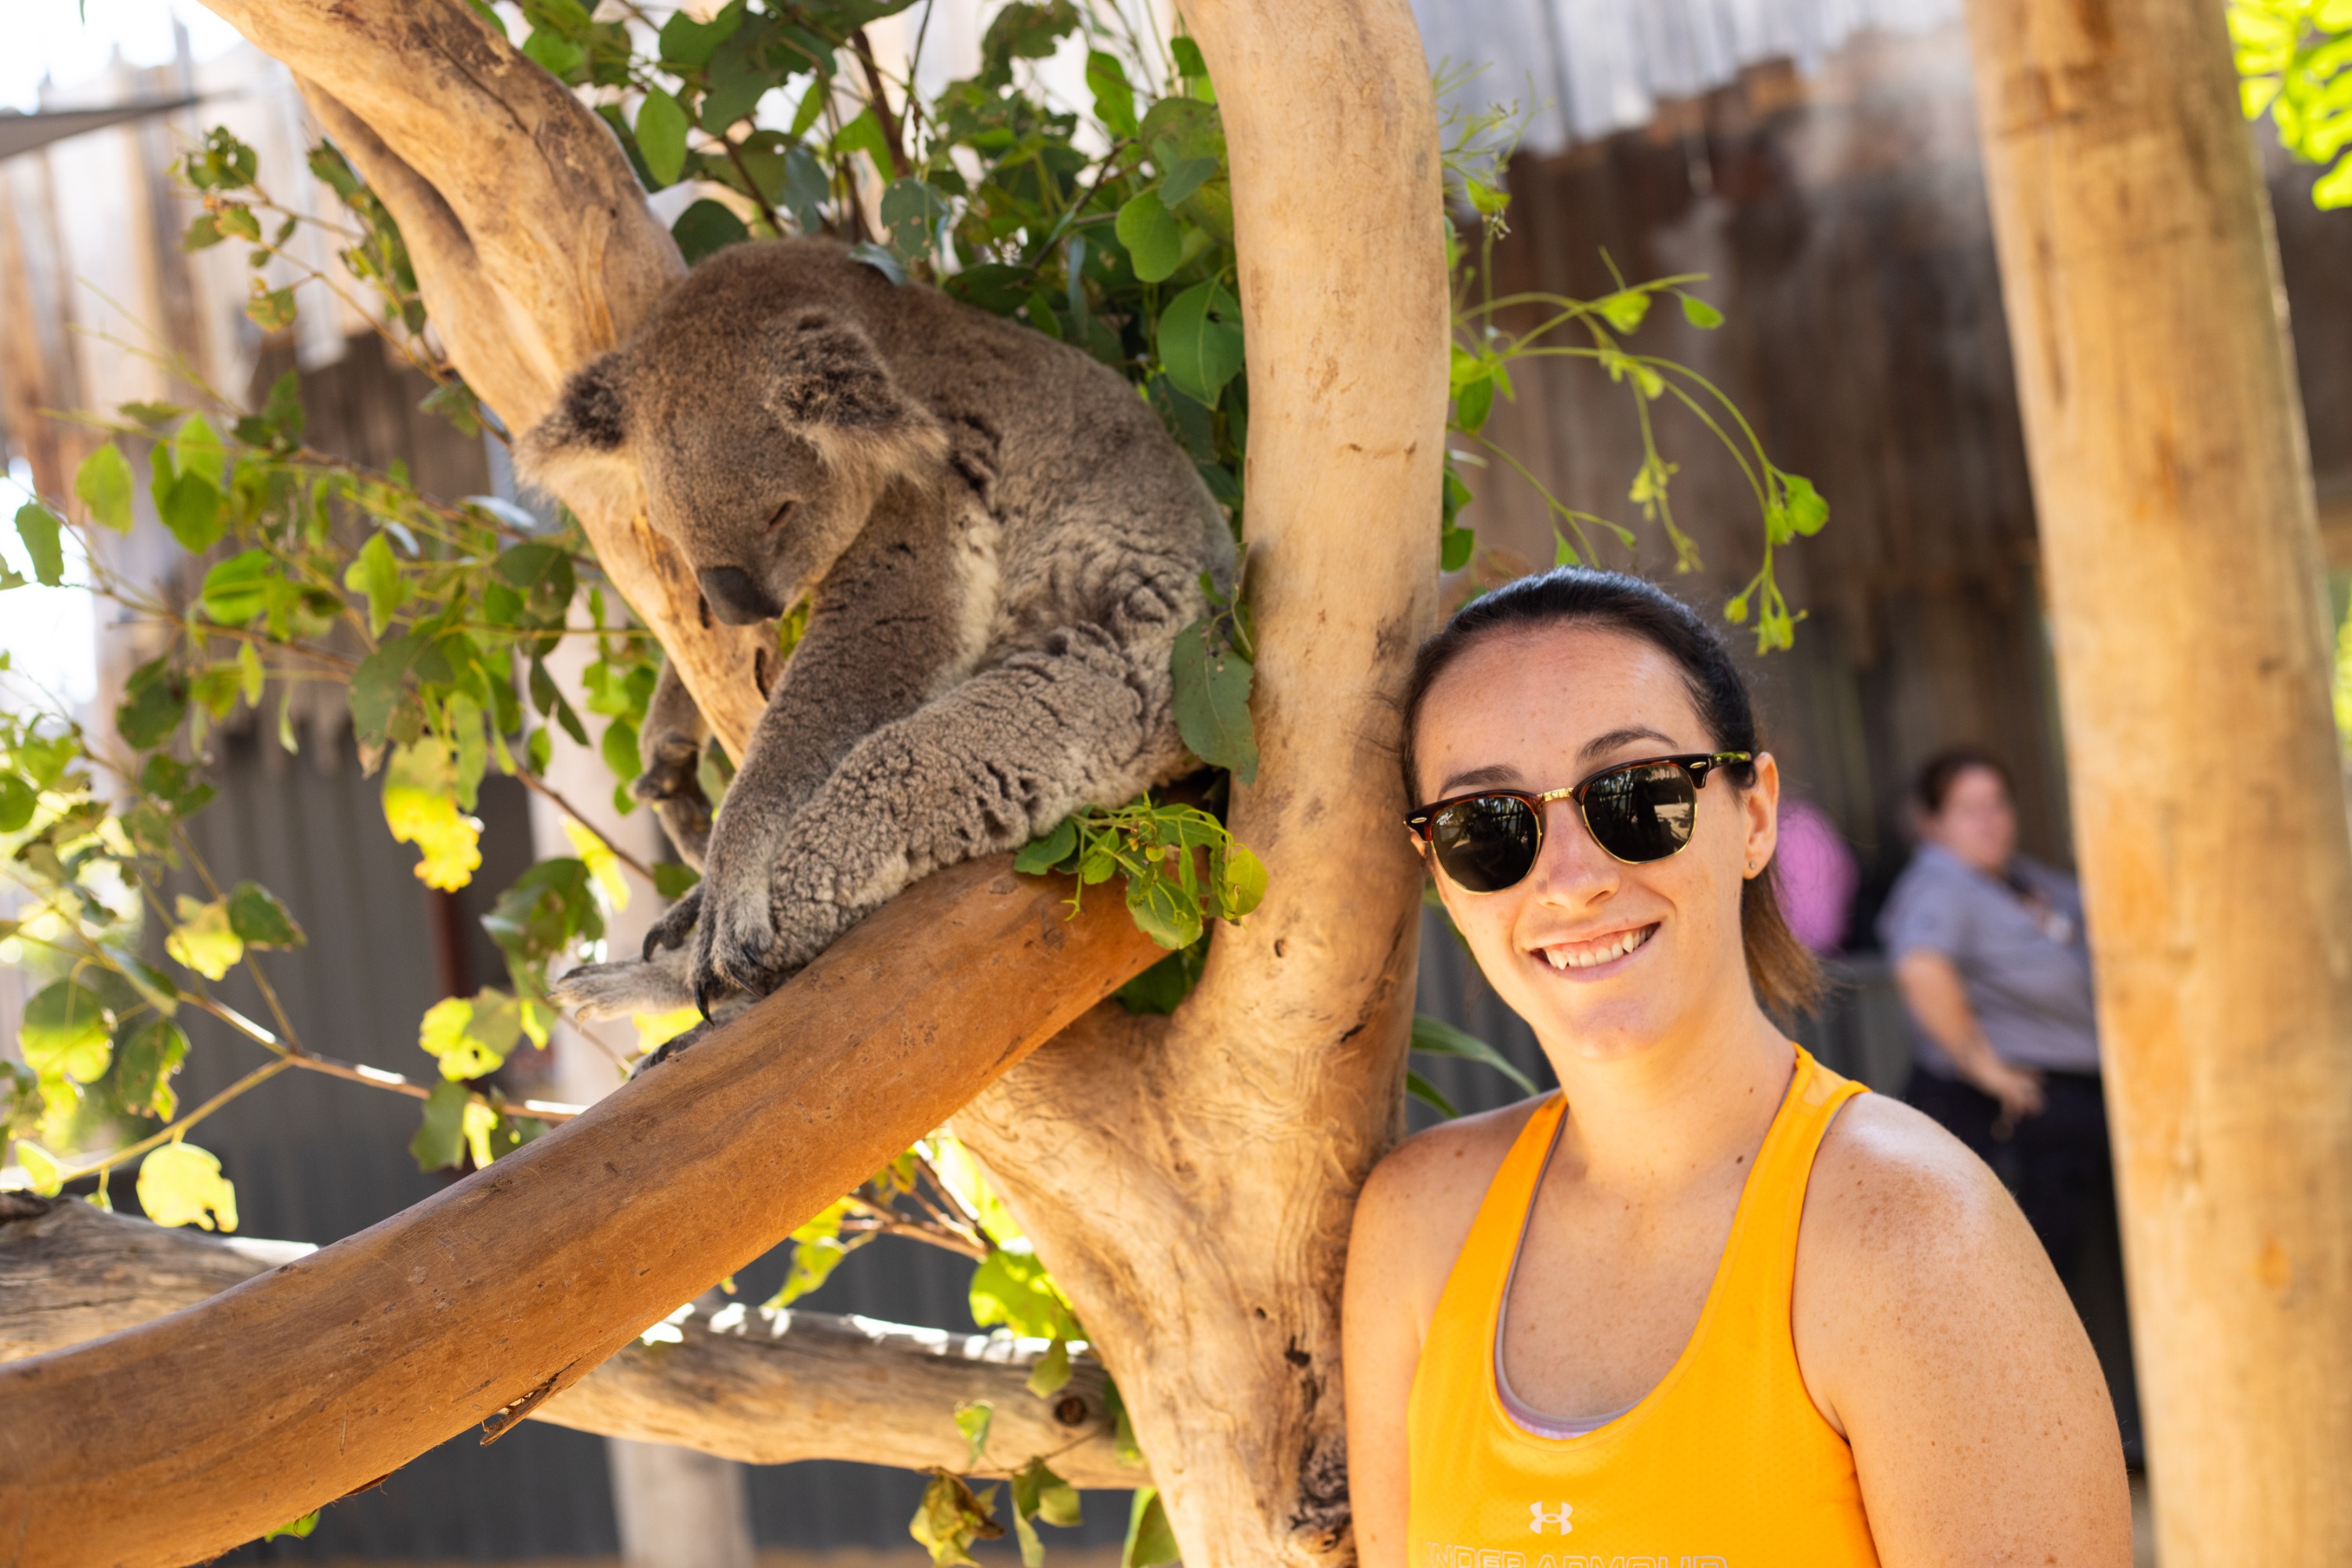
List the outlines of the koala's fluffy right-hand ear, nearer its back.
{"label": "koala's fluffy right-hand ear, nearer its back", "polygon": [[767,407],[835,468],[938,461],[946,430],[906,395],[866,329],[830,310],[795,310],[767,327]]}

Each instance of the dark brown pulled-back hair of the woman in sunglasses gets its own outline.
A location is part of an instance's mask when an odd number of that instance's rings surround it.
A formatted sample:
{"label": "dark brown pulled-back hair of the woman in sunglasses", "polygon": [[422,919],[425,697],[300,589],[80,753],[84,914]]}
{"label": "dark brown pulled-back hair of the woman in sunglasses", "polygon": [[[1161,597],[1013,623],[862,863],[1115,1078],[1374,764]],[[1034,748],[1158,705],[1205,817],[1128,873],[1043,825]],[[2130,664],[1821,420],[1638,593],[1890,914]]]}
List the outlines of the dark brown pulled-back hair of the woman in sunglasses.
{"label": "dark brown pulled-back hair of the woman in sunglasses", "polygon": [[[1698,710],[1698,722],[1717,750],[1764,750],[1757,741],[1757,717],[1755,703],[1748,701],[1748,682],[1740,679],[1740,670],[1731,663],[1731,651],[1724,649],[1722,637],[1689,604],[1623,571],[1559,567],[1470,599],[1454,611],[1442,632],[1421,644],[1421,654],[1414,658],[1414,675],[1404,686],[1402,762],[1406,799],[1421,797],[1414,731],[1421,724],[1421,705],[1428,701],[1437,677],[1486,637],[1498,632],[1536,632],[1555,625],[1590,625],[1651,644],[1682,670],[1691,708]],[[1755,766],[1748,764],[1722,771],[1740,790],[1750,788],[1757,778]],[[1780,1018],[1797,1018],[1820,1004],[1820,961],[1780,917],[1780,893],[1773,870],[1750,877],[1740,889],[1740,950],[1748,954],[1748,980],[1769,1011]]]}

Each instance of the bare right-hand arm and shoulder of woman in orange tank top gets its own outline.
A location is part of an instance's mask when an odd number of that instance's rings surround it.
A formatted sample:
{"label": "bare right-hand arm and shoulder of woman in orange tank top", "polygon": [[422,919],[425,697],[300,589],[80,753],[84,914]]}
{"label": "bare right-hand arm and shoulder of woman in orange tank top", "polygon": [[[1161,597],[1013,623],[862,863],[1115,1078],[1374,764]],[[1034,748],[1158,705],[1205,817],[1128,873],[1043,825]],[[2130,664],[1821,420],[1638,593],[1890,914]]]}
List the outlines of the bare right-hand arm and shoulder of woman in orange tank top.
{"label": "bare right-hand arm and shoulder of woman in orange tank top", "polygon": [[1886,1568],[2129,1568],[2114,1406],[2025,1215],[1933,1121],[1846,1105],[1797,1244],[1797,1361]]}

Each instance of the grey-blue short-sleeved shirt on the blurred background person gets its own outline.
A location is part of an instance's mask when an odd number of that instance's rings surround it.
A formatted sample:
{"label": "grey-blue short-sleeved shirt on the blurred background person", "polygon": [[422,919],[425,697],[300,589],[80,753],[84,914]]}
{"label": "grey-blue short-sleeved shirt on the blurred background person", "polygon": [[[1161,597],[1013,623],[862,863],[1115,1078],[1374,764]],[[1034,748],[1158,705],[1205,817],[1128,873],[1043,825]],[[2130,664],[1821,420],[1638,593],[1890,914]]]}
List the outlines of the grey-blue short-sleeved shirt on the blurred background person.
{"label": "grey-blue short-sleeved shirt on the blurred background person", "polygon": [[[2018,856],[2011,877],[2049,905],[2037,919],[1999,877],[1938,844],[1922,844],[1879,912],[1889,961],[1940,952],[1959,971],[1969,1009],[2004,1063],[2056,1072],[2098,1072],[2091,1016],[2091,950],[2082,933],[2082,889],[2065,872]],[[1959,1067],[1912,1023],[1919,1065],[1955,1079]]]}

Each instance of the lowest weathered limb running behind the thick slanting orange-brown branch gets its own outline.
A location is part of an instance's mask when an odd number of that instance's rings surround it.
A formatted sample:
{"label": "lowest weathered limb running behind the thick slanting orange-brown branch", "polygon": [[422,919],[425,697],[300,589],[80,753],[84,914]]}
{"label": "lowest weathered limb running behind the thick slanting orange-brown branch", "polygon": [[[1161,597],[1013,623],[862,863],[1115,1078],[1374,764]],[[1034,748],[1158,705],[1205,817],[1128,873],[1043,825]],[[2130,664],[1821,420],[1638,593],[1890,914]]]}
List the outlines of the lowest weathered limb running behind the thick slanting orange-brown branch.
{"label": "lowest weathered limb running behind the thick slanting orange-brown branch", "polygon": [[[0,1194],[0,1361],[136,1328],[313,1251],[165,1229],[75,1199]],[[976,1474],[1051,1455],[1073,1486],[1150,1481],[1117,1462],[1098,1361],[1075,1359],[1051,1399],[1028,1392],[1044,1340],[828,1312],[762,1314],[708,1295],[677,1331],[675,1345],[623,1347],[532,1420],[748,1465],[967,1469],[969,1450],[948,1418],[985,1401],[995,1418]]]}

